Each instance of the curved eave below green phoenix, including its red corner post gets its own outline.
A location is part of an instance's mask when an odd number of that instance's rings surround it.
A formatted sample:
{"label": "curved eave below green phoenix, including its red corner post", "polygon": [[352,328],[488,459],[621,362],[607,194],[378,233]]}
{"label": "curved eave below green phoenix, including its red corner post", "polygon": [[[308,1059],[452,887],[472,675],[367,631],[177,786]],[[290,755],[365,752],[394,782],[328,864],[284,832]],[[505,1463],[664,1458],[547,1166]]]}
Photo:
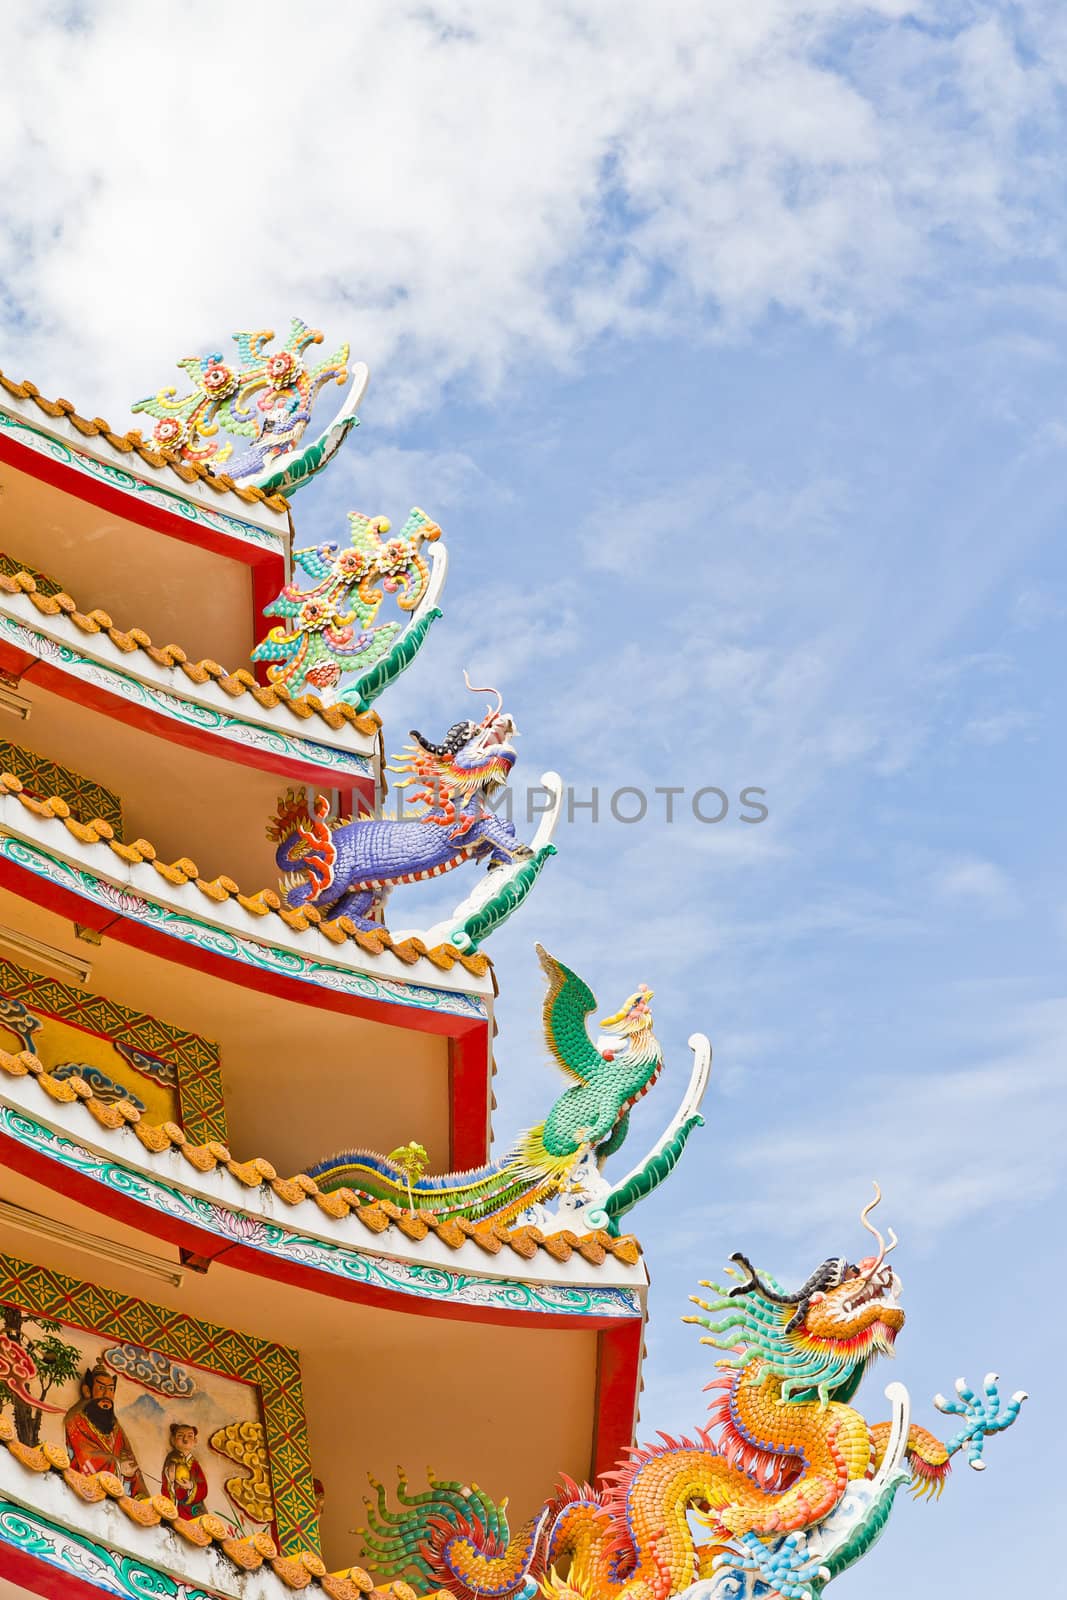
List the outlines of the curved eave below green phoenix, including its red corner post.
{"label": "curved eave below green phoenix, including its red corner post", "polygon": [[[370,1234],[358,1213],[339,1219],[314,1203],[298,1208],[299,1226],[293,1226],[288,1205],[269,1187],[246,1190],[243,1203],[234,1205],[238,1184],[226,1168],[190,1174],[176,1152],[131,1155],[139,1141],[128,1128],[91,1126],[86,1138],[82,1106],[54,1104],[45,1115],[38,1109],[30,1114],[26,1102],[34,1093],[21,1078],[0,1083],[0,1168],[11,1174],[8,1192],[16,1200],[26,1194],[40,1210],[34,1195],[61,1194],[67,1214],[77,1219],[83,1211],[94,1230],[134,1229],[155,1242],[157,1253],[162,1243],[198,1262],[197,1283],[205,1269],[206,1285],[219,1282],[219,1274],[240,1274],[251,1280],[242,1304],[253,1320],[256,1306],[296,1293],[326,1296],[338,1310],[362,1317],[398,1312],[405,1318],[446,1318],[458,1331],[466,1325],[472,1336],[482,1326],[592,1338],[590,1469],[609,1469],[629,1445],[648,1288],[635,1253],[630,1261],[605,1253],[600,1264],[590,1264],[574,1248],[574,1235],[563,1234],[557,1240],[573,1242],[566,1259],[544,1248],[525,1259],[499,1243],[494,1253],[491,1230],[483,1245],[467,1240],[450,1248],[432,1230],[422,1238],[406,1237],[398,1226]],[[370,1243],[355,1242],[360,1234]],[[317,1320],[325,1315],[325,1309],[315,1314]],[[432,1346],[437,1334],[430,1326]]]}

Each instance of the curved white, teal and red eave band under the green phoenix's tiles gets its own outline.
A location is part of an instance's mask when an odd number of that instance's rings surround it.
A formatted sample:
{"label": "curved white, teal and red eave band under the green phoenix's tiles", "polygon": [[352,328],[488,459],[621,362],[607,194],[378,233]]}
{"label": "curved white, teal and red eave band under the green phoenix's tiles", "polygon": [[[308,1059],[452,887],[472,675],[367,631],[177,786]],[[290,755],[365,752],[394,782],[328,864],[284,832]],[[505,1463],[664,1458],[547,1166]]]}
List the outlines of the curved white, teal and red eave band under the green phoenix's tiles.
{"label": "curved white, teal and red eave band under the green phoenix's tiles", "polygon": [[77,1101],[42,1114],[32,1085],[32,1077],[0,1082],[2,1165],[202,1261],[459,1322],[606,1330],[643,1317],[648,1278],[637,1251],[622,1261],[601,1248],[590,1264],[569,1234],[553,1254],[528,1246],[528,1230],[518,1230],[520,1254],[493,1230],[482,1243],[451,1246],[426,1224],[374,1232],[358,1211],[330,1216],[310,1198],[291,1206],[262,1178],[242,1186],[222,1163],[198,1171],[178,1150],[147,1154],[126,1126],[90,1123],[86,1133]]}

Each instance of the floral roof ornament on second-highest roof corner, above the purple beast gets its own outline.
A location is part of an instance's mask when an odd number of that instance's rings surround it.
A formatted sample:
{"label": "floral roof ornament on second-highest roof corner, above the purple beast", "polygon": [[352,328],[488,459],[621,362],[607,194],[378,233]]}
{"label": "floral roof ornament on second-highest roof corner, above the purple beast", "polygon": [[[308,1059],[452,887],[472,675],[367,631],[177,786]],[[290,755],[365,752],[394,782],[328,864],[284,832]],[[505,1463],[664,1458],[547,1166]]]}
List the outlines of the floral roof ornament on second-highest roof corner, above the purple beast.
{"label": "floral roof ornament on second-highest roof corner, above the purple beast", "polygon": [[[422,544],[440,539],[442,530],[418,506],[392,539],[387,517],[354,510],[349,523],[347,546],[325,542],[293,552],[294,565],[312,579],[312,587],[301,589],[290,579],[264,606],[264,616],[280,616],[283,622],[256,645],[251,659],[269,661],[267,678],[290,694],[312,690],[326,702],[341,699],[365,710],[408,666],[442,614],[434,598],[442,589],[445,560],[443,547],[434,570],[426,560]],[[406,630],[398,621],[374,622],[386,592],[395,595],[402,611],[418,613]],[[371,669],[378,669],[373,677]],[[360,677],[338,694],[346,672]]]}

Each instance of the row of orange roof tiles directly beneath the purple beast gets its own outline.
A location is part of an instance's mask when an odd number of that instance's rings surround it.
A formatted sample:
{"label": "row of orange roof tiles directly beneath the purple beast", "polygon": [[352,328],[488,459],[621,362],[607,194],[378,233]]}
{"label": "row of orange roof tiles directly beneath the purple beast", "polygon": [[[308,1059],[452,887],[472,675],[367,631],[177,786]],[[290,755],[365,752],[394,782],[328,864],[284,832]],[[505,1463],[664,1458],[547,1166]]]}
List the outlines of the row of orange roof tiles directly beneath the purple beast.
{"label": "row of orange roof tiles directly beneath the purple beast", "polygon": [[349,917],[336,917],[330,922],[315,906],[291,910],[274,890],[264,888],[254,894],[243,894],[234,878],[226,875],[211,880],[202,878],[195,861],[190,861],[189,856],[181,856],[171,862],[160,861],[155,845],[149,843],[147,838],[138,838],[133,845],[123,845],[115,838],[115,829],[110,822],[106,822],[102,818],[94,818],[91,822],[75,821],[70,814],[70,806],[59,795],[51,795],[46,800],[34,800],[26,794],[13,773],[0,773],[0,794],[14,795],[19,805],[26,806],[37,818],[62,822],[67,832],[82,845],[106,845],[128,866],[136,867],[149,862],[174,888],[184,888],[187,883],[192,883],[205,899],[214,904],[235,899],[250,915],[278,917],[293,933],[306,933],[315,926],[331,944],[344,944],[350,939],[368,955],[382,955],[389,950],[408,966],[418,960],[427,960],[442,971],[451,971],[456,962],[459,962],[475,978],[483,978],[490,970],[488,955],[482,955],[480,952],[466,954],[458,950],[454,944],[435,944],[430,947],[414,936],[395,941],[387,928],[363,931]]}

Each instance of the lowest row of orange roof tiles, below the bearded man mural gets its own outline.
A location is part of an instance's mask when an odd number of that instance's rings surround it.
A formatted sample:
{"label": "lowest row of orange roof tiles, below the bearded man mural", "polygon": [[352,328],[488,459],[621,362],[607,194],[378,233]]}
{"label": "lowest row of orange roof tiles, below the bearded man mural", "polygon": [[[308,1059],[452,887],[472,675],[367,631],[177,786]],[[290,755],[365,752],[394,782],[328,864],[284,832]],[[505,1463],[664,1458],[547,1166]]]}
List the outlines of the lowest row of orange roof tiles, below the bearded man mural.
{"label": "lowest row of orange roof tiles, below the bearded man mural", "polygon": [[[24,1445],[16,1435],[14,1422],[6,1416],[0,1418],[0,1443],[27,1472],[54,1472],[85,1504],[98,1506],[101,1501],[110,1499],[138,1528],[165,1525],[195,1549],[214,1547],[238,1571],[254,1573],[266,1563],[286,1589],[307,1589],[315,1584],[330,1600],[363,1600],[363,1597],[370,1597],[370,1600],[416,1600],[416,1592],[410,1584],[395,1581],[379,1587],[362,1566],[328,1573],[317,1550],[280,1555],[277,1544],[267,1533],[253,1533],[245,1539],[235,1539],[227,1523],[213,1512],[186,1522],[178,1515],[178,1506],[166,1494],[133,1499],[126,1494],[122,1478],[115,1477],[114,1472],[75,1472],[70,1466],[70,1456],[59,1445]],[[160,1562],[170,1566],[173,1557],[168,1558],[160,1550]],[[430,1600],[450,1600],[450,1597],[445,1590],[437,1590]]]}

